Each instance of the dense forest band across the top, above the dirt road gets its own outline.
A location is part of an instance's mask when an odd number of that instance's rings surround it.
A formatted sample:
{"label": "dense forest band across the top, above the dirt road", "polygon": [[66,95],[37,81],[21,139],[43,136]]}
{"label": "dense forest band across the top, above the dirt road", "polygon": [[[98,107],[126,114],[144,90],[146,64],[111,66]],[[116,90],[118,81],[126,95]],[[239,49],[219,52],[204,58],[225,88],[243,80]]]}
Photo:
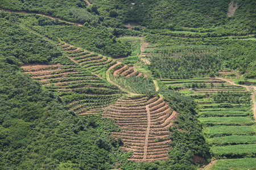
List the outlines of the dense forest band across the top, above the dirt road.
{"label": "dense forest band across the top, above the dirt road", "polygon": [[[227,16],[229,1],[215,0],[210,3],[197,1],[97,1],[86,6],[82,0],[56,2],[47,1],[7,1],[2,8],[15,11],[42,12],[80,23],[102,22],[113,27],[123,27],[123,23],[134,22],[147,28],[189,29],[208,32],[221,29],[230,34],[255,33],[255,2],[253,0],[234,1],[237,12]],[[68,9],[68,10],[66,10]],[[207,31],[208,30],[208,31]]]}

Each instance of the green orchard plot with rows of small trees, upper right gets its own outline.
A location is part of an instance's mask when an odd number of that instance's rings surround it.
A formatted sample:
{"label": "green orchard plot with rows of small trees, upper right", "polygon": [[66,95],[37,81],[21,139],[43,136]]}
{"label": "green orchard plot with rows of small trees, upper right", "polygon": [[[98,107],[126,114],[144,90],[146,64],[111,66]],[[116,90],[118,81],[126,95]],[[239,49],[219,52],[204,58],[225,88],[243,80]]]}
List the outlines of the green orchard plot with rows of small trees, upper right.
{"label": "green orchard plot with rows of small trees, upper right", "polygon": [[[179,36],[186,36],[187,39]],[[158,78],[188,79],[213,76],[218,74],[218,70],[231,69],[241,74],[247,72],[246,78],[255,77],[253,40],[193,36],[170,31],[148,34],[147,41],[155,44],[154,50],[149,51],[153,75]]]}

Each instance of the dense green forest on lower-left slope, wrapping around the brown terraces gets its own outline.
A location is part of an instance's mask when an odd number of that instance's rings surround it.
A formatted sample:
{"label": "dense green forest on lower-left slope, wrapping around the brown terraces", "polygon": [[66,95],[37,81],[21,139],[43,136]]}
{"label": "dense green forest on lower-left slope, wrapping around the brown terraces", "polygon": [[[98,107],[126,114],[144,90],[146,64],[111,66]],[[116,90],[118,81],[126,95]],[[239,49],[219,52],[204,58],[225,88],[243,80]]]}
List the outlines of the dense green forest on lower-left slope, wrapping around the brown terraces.
{"label": "dense green forest on lower-left slope, wrapping around the brown terraces", "polygon": [[[17,25],[0,23],[1,32],[6,33],[1,36],[5,46],[1,45],[0,52],[1,169],[112,168],[110,164],[116,161],[111,153],[118,146],[109,138],[117,130],[113,122],[67,111],[59,96],[18,68],[18,63],[61,57],[56,46]],[[11,52],[11,47],[20,54]],[[51,56],[52,48],[58,52],[56,56]]]}

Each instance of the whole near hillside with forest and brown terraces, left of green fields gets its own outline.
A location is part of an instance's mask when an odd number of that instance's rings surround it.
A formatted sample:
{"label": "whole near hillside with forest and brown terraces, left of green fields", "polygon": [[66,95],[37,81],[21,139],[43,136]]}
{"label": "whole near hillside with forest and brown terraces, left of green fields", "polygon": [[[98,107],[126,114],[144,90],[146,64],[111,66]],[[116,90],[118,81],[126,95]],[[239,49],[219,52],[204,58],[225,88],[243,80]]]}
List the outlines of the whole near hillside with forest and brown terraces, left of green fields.
{"label": "whole near hillside with forest and brown terraces, left of green fields", "polygon": [[[13,22],[6,14],[2,16],[5,19],[0,21],[1,33],[5,36],[0,39],[1,91],[4,94],[1,95],[1,168],[145,169],[144,166],[150,165],[159,169],[179,166],[193,169],[193,155],[202,158],[209,155],[201,126],[196,120],[195,103],[191,99],[173,91],[158,98],[151,78],[143,77],[121,63],[105,66],[109,57],[90,55],[87,50],[35,32],[20,24],[20,18],[12,18],[16,20]],[[27,22],[24,15],[15,16]],[[70,57],[71,54],[78,56]],[[83,56],[82,63],[88,63],[82,65],[78,62],[76,57],[79,56]],[[87,67],[96,63],[102,69],[100,72]],[[98,73],[102,73],[101,76]],[[107,82],[104,75],[111,80]],[[118,87],[123,86],[125,82],[121,78],[126,75],[127,86],[123,91]],[[148,93],[143,87],[152,88],[152,91]],[[134,105],[134,100],[139,97],[134,92],[127,95],[135,96],[120,99],[129,90],[142,94],[146,103],[139,101]],[[162,87],[164,90],[168,91]],[[129,100],[133,103],[131,106]],[[129,109],[124,112],[123,108]],[[115,120],[113,113],[121,119]],[[131,120],[135,121],[134,125],[122,123],[126,113],[135,113]],[[179,113],[187,116],[180,117]],[[77,114],[85,116],[78,117]],[[146,118],[147,128],[137,127],[137,124],[141,126],[138,116]],[[130,150],[134,145],[125,138],[126,135],[122,138],[117,135],[123,132],[121,130],[133,131],[130,128],[141,130],[140,135],[145,133],[142,135],[144,139],[137,141],[143,143],[138,145],[138,152]],[[171,138],[172,134],[174,137]],[[191,139],[200,142],[194,143]],[[123,151],[123,148],[132,152]],[[181,155],[174,159],[177,153]],[[97,159],[93,161],[93,158]],[[139,163],[134,163],[135,159]],[[167,160],[161,161],[163,159]],[[141,163],[154,160],[158,163]],[[184,163],[183,160],[188,161]]]}

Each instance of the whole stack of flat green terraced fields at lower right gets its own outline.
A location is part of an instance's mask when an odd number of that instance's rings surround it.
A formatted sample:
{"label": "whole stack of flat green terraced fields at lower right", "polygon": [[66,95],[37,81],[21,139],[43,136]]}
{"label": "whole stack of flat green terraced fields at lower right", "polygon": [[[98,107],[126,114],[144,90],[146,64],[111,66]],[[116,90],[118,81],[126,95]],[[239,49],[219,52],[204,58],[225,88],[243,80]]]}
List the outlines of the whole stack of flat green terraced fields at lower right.
{"label": "whole stack of flat green terraced fields at lower right", "polygon": [[256,126],[251,111],[251,93],[247,91],[249,88],[214,78],[162,79],[162,82],[194,97],[199,103],[199,120],[204,125],[213,156],[229,158],[217,161],[214,167],[226,162],[230,165],[225,165],[226,169],[236,168],[230,163],[241,158],[243,160],[238,162],[245,161],[247,168],[251,168],[251,161],[256,162]]}

